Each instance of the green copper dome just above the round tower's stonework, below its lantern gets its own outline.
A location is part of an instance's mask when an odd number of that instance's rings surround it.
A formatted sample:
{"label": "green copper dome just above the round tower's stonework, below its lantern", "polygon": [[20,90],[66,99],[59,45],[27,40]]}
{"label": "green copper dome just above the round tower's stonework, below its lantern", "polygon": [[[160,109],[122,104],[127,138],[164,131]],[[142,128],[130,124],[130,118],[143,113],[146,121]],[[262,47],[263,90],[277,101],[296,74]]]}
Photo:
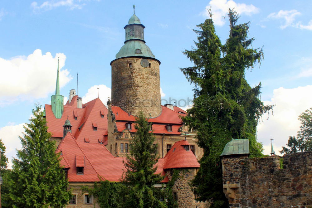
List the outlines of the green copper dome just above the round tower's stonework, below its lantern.
{"label": "green copper dome just above the round tower's stonework, below its lantern", "polygon": [[[136,53],[137,49],[140,49],[141,53]],[[128,56],[145,56],[155,58],[154,54],[149,49],[149,46],[139,40],[127,41],[116,54],[116,59]]]}

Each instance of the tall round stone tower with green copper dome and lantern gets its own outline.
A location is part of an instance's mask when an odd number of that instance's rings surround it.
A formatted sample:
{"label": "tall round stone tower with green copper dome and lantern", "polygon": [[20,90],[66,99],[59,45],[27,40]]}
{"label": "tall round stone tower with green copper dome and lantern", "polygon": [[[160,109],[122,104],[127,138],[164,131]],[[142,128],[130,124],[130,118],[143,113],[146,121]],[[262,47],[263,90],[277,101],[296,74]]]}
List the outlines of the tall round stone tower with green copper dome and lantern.
{"label": "tall round stone tower with green copper dome and lantern", "polygon": [[124,27],[126,40],[112,66],[112,105],[148,117],[161,113],[159,65],[144,41],[144,25],[133,14]]}

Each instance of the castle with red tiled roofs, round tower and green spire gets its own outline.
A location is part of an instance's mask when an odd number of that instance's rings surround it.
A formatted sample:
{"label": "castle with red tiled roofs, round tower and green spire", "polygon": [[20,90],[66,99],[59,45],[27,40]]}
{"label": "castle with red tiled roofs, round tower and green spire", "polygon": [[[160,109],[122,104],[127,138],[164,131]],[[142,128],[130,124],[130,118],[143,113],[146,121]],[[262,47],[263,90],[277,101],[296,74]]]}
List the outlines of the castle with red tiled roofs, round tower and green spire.
{"label": "castle with red tiled roofs, round tower and green spire", "polygon": [[196,133],[189,132],[181,120],[186,112],[173,104],[161,105],[160,61],[145,44],[144,28],[135,14],[124,27],[124,46],[110,63],[112,95],[107,107],[99,98],[83,104],[75,89],[70,90],[64,105],[57,68],[56,92],[51,104],[45,105],[45,117],[73,190],[68,207],[99,207],[94,196],[81,190],[81,186],[92,187],[100,180],[119,181],[140,111],[152,123],[153,145],[160,157],[156,173],[164,176],[161,183],[171,180],[172,169],[186,170],[180,172],[182,175],[173,186],[175,200],[180,207],[208,206],[208,202],[195,201],[188,186],[197,173],[197,159],[203,151],[196,144]]}

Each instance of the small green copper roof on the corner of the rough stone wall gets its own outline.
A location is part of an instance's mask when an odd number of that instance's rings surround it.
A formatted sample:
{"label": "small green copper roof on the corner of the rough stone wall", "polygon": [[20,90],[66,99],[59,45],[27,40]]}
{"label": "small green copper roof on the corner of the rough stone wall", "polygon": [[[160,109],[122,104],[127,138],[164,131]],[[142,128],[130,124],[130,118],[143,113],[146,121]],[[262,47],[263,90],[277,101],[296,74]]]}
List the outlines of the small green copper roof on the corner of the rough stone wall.
{"label": "small green copper roof on the corner of the rough stone wall", "polygon": [[249,139],[232,139],[227,143],[220,156],[249,154]]}

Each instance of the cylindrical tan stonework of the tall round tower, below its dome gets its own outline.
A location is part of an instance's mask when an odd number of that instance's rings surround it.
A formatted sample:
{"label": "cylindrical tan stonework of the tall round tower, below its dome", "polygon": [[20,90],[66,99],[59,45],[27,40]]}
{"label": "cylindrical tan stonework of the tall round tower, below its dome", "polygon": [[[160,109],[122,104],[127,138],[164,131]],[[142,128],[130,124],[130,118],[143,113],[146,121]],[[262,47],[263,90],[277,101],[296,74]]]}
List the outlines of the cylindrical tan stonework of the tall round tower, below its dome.
{"label": "cylindrical tan stonework of the tall round tower, below its dome", "polygon": [[159,63],[147,59],[150,67],[143,67],[142,59],[128,57],[112,62],[112,104],[133,115],[143,111],[148,117],[156,117],[161,113]]}

